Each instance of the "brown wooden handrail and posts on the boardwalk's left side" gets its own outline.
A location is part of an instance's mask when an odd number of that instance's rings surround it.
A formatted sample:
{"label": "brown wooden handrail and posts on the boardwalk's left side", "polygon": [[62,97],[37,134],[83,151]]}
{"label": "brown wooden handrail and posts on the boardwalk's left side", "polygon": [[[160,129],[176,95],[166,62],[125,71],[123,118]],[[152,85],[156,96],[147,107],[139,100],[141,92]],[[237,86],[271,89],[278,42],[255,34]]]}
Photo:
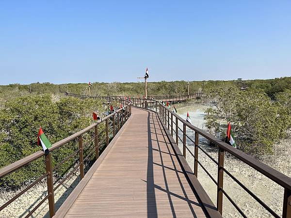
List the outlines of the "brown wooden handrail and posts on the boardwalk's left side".
{"label": "brown wooden handrail and posts on the boardwalk's left side", "polygon": [[[80,97],[80,98],[87,98],[87,96],[79,96],[79,95],[75,95],[76,97]],[[107,100],[111,100],[111,98],[108,98]],[[92,155],[94,152],[96,154],[96,159],[99,157],[99,143],[102,144],[103,142],[100,142],[98,140],[98,136],[100,135],[100,133],[98,134],[98,129],[97,126],[105,121],[106,126],[105,126],[105,132],[106,132],[106,141],[107,141],[107,145],[108,145],[108,141],[109,141],[109,135],[108,135],[108,131],[110,127],[115,126],[115,119],[111,118],[115,117],[115,115],[117,114],[118,116],[118,130],[120,129],[120,122],[122,123],[122,125],[127,122],[127,120],[129,119],[129,116],[131,115],[131,102],[123,100],[123,99],[119,99],[120,102],[122,102],[124,104],[124,109],[117,109],[115,111],[115,113],[111,113],[108,116],[102,118],[102,120],[97,121],[96,123],[89,125],[88,127],[80,130],[79,132],[63,139],[60,140],[56,143],[54,143],[52,145],[52,147],[49,148],[49,154],[45,155],[45,153],[43,151],[38,151],[33,153],[30,156],[26,156],[6,167],[3,167],[0,169],[0,179],[3,178],[4,176],[8,175],[9,173],[16,171],[26,165],[28,165],[29,163],[31,163],[32,161],[45,156],[45,165],[46,165],[46,171],[47,173],[43,176],[41,176],[40,178],[36,179],[29,187],[26,187],[24,190],[22,190],[21,192],[19,192],[15,197],[13,197],[12,199],[10,199],[8,202],[4,203],[3,205],[0,206],[0,211],[2,209],[4,209],[5,207],[7,207],[11,202],[15,201],[19,196],[21,196],[23,193],[25,193],[27,190],[29,190],[31,187],[33,187],[36,183],[40,182],[44,177],[47,177],[47,185],[48,185],[48,195],[45,197],[45,199],[43,199],[38,205],[36,205],[32,211],[28,214],[28,216],[30,216],[43,202],[45,202],[46,199],[49,200],[49,215],[50,217],[53,217],[55,214],[55,202],[54,202],[54,190],[56,190],[58,187],[60,187],[60,185],[62,185],[64,183],[64,181],[69,178],[74,171],[76,171],[78,168],[80,168],[80,172],[81,172],[81,179],[84,177],[84,161],[90,156]],[[122,117],[122,121],[119,120],[120,118],[120,113],[121,113],[121,117]],[[123,120],[124,118],[124,114],[126,116],[126,119]],[[114,125],[108,125],[108,122],[114,122]],[[92,150],[91,152],[89,152],[89,155],[87,155],[85,158],[83,158],[83,148],[84,145],[86,145],[87,142],[85,142],[85,144],[83,144],[82,141],[82,137],[84,133],[89,132],[90,130],[94,129],[94,137],[92,137],[89,141],[92,143],[95,140],[94,143],[94,150]],[[101,131],[102,132],[102,131]],[[113,137],[115,136],[115,129],[114,129],[114,134]],[[66,157],[63,161],[61,161],[61,163],[59,163],[56,167],[52,168],[52,161],[51,161],[51,152],[53,152],[54,150],[58,149],[59,147],[63,146],[64,144],[78,139],[79,140],[79,149],[77,151],[74,151],[73,154],[71,154],[70,156]],[[91,147],[92,148],[92,147]],[[105,149],[106,150],[106,149]],[[79,164],[70,172],[68,173],[68,175],[65,176],[65,178],[56,186],[53,187],[53,171],[56,170],[60,165],[62,165],[63,163],[65,163],[65,161],[67,161],[68,159],[72,158],[73,156],[75,156],[76,154],[79,153]]]}

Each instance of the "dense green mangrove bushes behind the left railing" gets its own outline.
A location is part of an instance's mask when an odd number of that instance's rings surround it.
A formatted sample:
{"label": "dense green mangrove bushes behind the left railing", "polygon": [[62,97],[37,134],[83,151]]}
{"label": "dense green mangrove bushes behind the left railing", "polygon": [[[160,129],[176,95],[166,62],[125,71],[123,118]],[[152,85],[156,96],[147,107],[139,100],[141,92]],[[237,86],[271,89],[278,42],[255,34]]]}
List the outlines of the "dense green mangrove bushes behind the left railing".
{"label": "dense green mangrove bushes behind the left railing", "polygon": [[[39,126],[50,142],[55,143],[92,124],[92,111],[103,113],[104,110],[100,100],[61,98],[54,101],[48,94],[16,97],[6,102],[5,107],[0,109],[0,168],[42,150],[37,145]],[[71,155],[77,147],[76,142],[70,142],[52,152],[53,166]],[[66,161],[56,175],[62,175],[77,157]],[[45,172],[43,161],[40,158],[5,176],[0,186],[17,187],[38,178]]]}

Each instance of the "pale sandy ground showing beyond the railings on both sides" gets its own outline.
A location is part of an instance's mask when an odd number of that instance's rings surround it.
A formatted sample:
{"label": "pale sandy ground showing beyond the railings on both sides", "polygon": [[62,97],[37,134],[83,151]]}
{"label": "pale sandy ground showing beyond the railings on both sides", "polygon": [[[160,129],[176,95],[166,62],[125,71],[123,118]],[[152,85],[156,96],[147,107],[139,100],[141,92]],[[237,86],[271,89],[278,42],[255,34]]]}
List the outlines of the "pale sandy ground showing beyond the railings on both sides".
{"label": "pale sandy ground showing beyond the railings on both sides", "polygon": [[[188,105],[177,107],[178,114],[186,118],[187,111],[189,111],[192,123],[200,128],[206,129],[204,126],[204,110],[208,106],[205,105]],[[180,126],[181,127],[181,126]],[[192,130],[187,132],[187,135],[194,139]],[[209,147],[207,140],[200,137],[200,146],[203,147],[214,159],[217,160],[217,149]],[[189,149],[194,153],[194,145],[190,140],[187,140]],[[181,145],[179,145],[181,149]],[[187,153],[186,159],[189,165],[194,168],[194,158]],[[215,180],[217,180],[217,166],[210,160],[208,156],[199,151],[199,161],[210,172]],[[275,154],[273,156],[266,156],[262,161],[275,168],[276,170],[291,176],[291,140],[281,140],[275,147]],[[262,175],[261,173],[253,170],[242,161],[233,158],[230,155],[225,156],[225,168],[242,184],[253,191],[263,202],[270,206],[278,215],[282,213],[283,203],[283,188],[276,185],[273,181]],[[56,209],[65,201],[66,197],[73,190],[79,182],[79,171],[59,187],[55,191]],[[212,182],[210,177],[198,165],[198,180],[209,194],[211,200],[216,205],[216,185]],[[22,190],[25,187],[22,187]],[[249,194],[247,194],[239,185],[237,185],[230,177],[224,173],[224,189],[226,193],[238,204],[242,211],[250,218],[268,218],[272,217],[259,203],[257,203]],[[19,192],[19,191],[18,191]],[[16,195],[16,191],[0,192],[0,205],[7,202],[9,199]],[[47,194],[47,185],[43,181],[31,188],[28,192],[23,194],[15,202],[12,202],[4,210],[0,212],[0,218],[14,218],[25,217],[35,205],[37,205]],[[232,204],[224,197],[223,199],[223,217],[237,218],[241,217],[240,213],[232,206]],[[34,213],[32,217],[49,217],[48,201],[44,202]]]}

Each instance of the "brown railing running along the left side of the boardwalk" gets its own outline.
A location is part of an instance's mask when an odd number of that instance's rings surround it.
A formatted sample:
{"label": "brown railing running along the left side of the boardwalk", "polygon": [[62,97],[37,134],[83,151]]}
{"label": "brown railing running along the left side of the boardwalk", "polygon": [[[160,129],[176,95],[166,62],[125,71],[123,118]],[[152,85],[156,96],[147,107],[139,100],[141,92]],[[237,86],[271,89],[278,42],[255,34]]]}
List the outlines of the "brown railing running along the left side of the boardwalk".
{"label": "brown railing running along the left side of the boardwalk", "polygon": [[[72,176],[72,174],[80,170],[80,178],[84,177],[84,166],[86,161],[89,160],[90,157],[94,156],[95,160],[99,157],[99,151],[103,146],[107,146],[109,141],[115,136],[115,134],[120,130],[120,128],[124,125],[124,123],[129,119],[131,114],[131,103],[125,100],[120,100],[124,104],[124,109],[116,110],[116,113],[109,114],[108,116],[102,118],[102,121],[98,121],[85,129],[61,140],[52,145],[49,148],[49,154],[45,155],[43,151],[35,152],[34,154],[24,157],[9,166],[6,166],[0,169],[0,179],[7,176],[8,174],[19,170],[20,168],[32,163],[33,161],[44,158],[43,164],[46,168],[46,173],[35,179],[28,187],[24,188],[18,194],[16,194],[12,199],[8,202],[4,203],[0,206],[0,211],[2,211],[5,207],[7,207],[10,203],[14,202],[21,195],[26,193],[29,189],[34,187],[36,184],[47,178],[47,186],[48,186],[48,194],[33,208],[30,212],[25,216],[25,218],[30,217],[33,212],[39,208],[46,200],[49,201],[49,215],[53,217],[55,214],[55,200],[54,200],[54,192],[57,188],[59,188],[64,182]],[[102,125],[101,125],[102,124]],[[105,124],[105,125],[104,125]],[[86,139],[86,141],[83,141]],[[75,150],[71,155],[67,156],[60,163],[55,166],[52,165],[52,153],[57,151],[62,146],[68,144],[69,142],[77,143],[78,149]],[[85,152],[86,151],[86,152]],[[62,166],[66,161],[71,158],[74,158],[77,154],[79,154],[79,158],[77,158],[74,169],[70,172],[67,172],[66,176],[62,178],[61,181],[54,181],[54,172]],[[56,185],[58,183],[58,185]],[[54,186],[54,184],[56,186]]]}

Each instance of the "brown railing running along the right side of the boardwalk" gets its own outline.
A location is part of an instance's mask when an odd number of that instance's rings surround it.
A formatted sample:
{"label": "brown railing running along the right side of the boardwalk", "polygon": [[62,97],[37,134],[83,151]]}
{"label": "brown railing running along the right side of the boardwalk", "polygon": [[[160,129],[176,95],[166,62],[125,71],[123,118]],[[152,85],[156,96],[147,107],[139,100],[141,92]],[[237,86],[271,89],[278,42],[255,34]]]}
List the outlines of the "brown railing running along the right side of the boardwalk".
{"label": "brown railing running along the right side of the boardwalk", "polygon": [[[232,200],[232,198],[226,193],[223,188],[224,185],[224,173],[226,173],[234,182],[236,182],[240,187],[242,187],[253,199],[255,199],[259,204],[265,208],[271,215],[275,218],[291,218],[291,178],[282,174],[279,171],[261,163],[255,158],[244,154],[240,150],[233,148],[227,143],[223,142],[210,135],[209,133],[197,128],[194,125],[189,124],[176,113],[163,106],[160,102],[155,100],[145,100],[145,99],[132,99],[133,106],[151,109],[153,111],[158,112],[159,116],[163,120],[164,124],[167,126],[170,131],[172,137],[176,138],[176,143],[178,144],[181,141],[183,145],[182,154],[186,159],[186,152],[189,152],[191,156],[194,157],[194,175],[197,177],[198,174],[198,165],[208,174],[213,183],[217,186],[217,202],[216,208],[222,214],[223,208],[223,195],[232,203],[232,205],[238,210],[238,212],[242,215],[242,217],[246,218],[247,216],[243,213],[243,211],[239,208],[239,206]],[[183,128],[179,127],[179,124],[183,125]],[[191,129],[195,132],[194,139],[187,135],[186,130]],[[182,137],[179,136],[179,131],[182,133]],[[210,140],[213,144],[218,147],[218,161],[216,161],[212,156],[210,156],[201,146],[198,144],[199,136],[205,137]],[[187,146],[186,139],[190,140],[194,143],[194,154]],[[198,160],[199,152],[203,152],[206,156],[210,158],[217,165],[217,180],[215,180],[212,175],[206,170],[206,168],[202,165],[202,163]],[[283,208],[282,214],[278,215],[272,210],[267,204],[265,204],[258,196],[256,196],[251,190],[245,187],[234,175],[232,175],[229,171],[224,168],[224,157],[225,153],[229,153],[232,156],[235,156],[242,162],[246,163],[256,171],[259,171],[269,179],[273,180],[276,184],[284,188],[284,196],[283,196]],[[263,185],[263,184],[262,184]]]}

